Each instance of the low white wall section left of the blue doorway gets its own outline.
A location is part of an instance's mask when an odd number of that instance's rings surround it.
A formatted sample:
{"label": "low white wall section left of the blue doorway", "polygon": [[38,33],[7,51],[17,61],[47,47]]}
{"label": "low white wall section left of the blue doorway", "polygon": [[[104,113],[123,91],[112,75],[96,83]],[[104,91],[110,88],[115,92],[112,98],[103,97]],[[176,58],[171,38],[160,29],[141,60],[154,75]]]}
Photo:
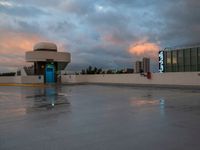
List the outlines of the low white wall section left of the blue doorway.
{"label": "low white wall section left of the blue doorway", "polygon": [[0,84],[13,84],[13,83],[21,83],[21,84],[28,84],[28,83],[44,83],[43,76],[3,76],[0,77]]}

